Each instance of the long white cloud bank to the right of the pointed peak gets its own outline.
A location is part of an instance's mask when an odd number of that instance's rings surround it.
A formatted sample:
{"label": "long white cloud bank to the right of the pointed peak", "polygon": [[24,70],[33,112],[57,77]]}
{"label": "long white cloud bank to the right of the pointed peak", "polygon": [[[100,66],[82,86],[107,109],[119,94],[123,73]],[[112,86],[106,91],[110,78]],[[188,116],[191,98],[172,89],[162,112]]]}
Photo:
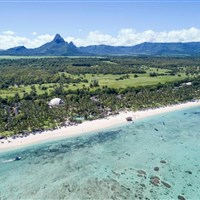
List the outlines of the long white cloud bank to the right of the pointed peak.
{"label": "long white cloud bank to the right of the pointed peak", "polygon": [[86,38],[66,38],[67,41],[69,39],[73,39],[77,46],[98,44],[132,46],[143,42],[194,42],[200,41],[200,29],[190,28],[163,32],[155,32],[153,30],[137,32],[134,29],[121,29],[115,37],[92,31]]}

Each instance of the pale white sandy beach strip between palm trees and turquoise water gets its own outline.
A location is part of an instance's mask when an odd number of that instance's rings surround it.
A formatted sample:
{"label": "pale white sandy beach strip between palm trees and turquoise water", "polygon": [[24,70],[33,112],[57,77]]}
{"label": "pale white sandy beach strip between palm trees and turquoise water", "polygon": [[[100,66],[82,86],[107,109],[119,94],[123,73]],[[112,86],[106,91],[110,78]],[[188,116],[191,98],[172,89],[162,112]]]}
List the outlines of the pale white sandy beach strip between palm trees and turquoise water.
{"label": "pale white sandy beach strip between palm trees and turquoise water", "polygon": [[42,142],[48,142],[59,139],[66,139],[75,136],[81,136],[93,131],[99,131],[107,128],[112,128],[117,125],[125,125],[130,123],[126,120],[127,117],[132,117],[133,122],[136,120],[144,119],[154,115],[164,114],[181,110],[184,108],[190,108],[200,106],[200,101],[192,101],[187,103],[175,104],[166,107],[160,107],[155,109],[147,109],[142,111],[123,111],[117,115],[111,115],[106,118],[96,119],[93,121],[85,121],[78,125],[72,125],[68,127],[61,127],[52,131],[44,131],[37,134],[30,134],[27,137],[7,138],[0,140],[0,152],[27,147],[33,144],[39,144]]}

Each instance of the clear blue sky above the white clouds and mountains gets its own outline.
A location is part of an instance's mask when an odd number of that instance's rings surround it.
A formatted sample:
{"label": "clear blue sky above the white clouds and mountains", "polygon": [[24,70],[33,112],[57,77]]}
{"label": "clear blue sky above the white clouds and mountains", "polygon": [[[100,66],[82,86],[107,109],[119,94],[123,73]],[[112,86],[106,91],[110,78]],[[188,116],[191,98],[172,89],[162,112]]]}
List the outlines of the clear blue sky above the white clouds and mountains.
{"label": "clear blue sky above the white clouds and mountains", "polygon": [[[45,35],[48,41],[53,35],[60,33],[65,39],[74,39],[81,45],[83,42],[81,43],[80,40],[87,40],[93,32],[96,33],[94,37],[99,34],[99,37],[107,35],[119,38],[121,30],[132,30],[132,33],[137,32],[141,36],[149,30],[155,33],[191,28],[199,30],[199,8],[200,1],[181,0],[109,2],[101,0],[87,2],[0,0],[0,48],[2,48],[2,38],[7,31],[13,32],[13,34],[8,34],[10,37],[12,35],[12,37],[32,41],[36,37],[45,37]],[[155,35],[147,39],[152,41]],[[197,36],[196,38],[192,36],[191,40],[194,39],[197,39]]]}

